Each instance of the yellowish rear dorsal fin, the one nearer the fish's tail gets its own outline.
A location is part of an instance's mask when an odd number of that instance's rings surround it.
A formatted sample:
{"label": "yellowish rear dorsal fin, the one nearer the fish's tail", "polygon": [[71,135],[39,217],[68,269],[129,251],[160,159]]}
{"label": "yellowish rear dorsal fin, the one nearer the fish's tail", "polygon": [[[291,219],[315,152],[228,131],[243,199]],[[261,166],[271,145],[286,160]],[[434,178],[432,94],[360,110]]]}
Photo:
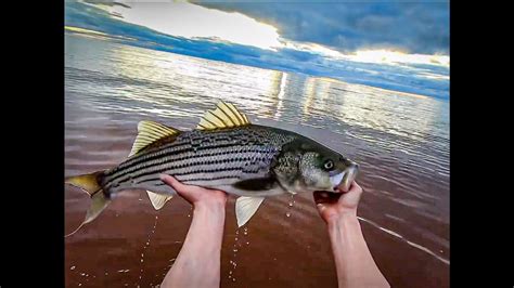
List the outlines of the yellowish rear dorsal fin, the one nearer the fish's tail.
{"label": "yellowish rear dorsal fin, the one nearer the fish's tail", "polygon": [[133,142],[129,157],[150,144],[167,136],[177,135],[180,131],[154,121],[141,121],[138,125],[138,136]]}

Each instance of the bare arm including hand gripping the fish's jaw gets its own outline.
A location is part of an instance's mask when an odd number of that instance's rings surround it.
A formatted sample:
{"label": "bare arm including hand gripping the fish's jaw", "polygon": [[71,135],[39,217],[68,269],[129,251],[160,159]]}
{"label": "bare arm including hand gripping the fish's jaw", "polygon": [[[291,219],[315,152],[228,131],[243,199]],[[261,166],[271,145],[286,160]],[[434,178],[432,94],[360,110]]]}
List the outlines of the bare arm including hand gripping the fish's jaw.
{"label": "bare arm including hand gripping the fish's jaw", "polygon": [[354,182],[345,194],[314,192],[321,218],[326,222],[339,288],[389,287],[371,256],[357,219],[362,188]]}

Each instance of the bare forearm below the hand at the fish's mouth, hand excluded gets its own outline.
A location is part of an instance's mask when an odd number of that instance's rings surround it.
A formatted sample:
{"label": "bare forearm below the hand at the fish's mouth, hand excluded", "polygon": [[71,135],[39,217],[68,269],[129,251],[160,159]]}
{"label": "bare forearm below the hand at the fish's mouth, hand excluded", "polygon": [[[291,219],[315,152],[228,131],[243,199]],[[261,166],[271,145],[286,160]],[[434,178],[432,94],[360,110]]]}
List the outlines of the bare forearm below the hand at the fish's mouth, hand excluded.
{"label": "bare forearm below the hand at the fish's mouth, hand excluded", "polygon": [[339,215],[327,227],[339,288],[389,287],[368,249],[355,214]]}

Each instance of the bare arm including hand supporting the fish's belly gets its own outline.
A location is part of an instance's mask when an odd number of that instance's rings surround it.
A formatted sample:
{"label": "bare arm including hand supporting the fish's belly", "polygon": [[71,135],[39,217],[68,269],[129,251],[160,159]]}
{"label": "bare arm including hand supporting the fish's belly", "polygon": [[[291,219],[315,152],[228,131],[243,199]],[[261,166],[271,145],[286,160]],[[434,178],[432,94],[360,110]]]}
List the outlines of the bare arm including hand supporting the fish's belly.
{"label": "bare arm including hand supporting the fish's belly", "polygon": [[193,221],[175,264],[160,287],[219,287],[227,194],[162,180],[193,205]]}

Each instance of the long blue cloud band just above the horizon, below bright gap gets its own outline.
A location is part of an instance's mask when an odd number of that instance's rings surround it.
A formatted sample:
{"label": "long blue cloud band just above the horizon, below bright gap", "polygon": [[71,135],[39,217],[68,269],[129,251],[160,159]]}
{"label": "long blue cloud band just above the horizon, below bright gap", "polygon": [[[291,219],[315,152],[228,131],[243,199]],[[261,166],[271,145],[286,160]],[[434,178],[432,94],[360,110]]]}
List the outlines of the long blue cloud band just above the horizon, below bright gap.
{"label": "long blue cloud band just above the horizon, below bright gap", "polygon": [[[386,18],[371,18],[360,25],[376,25]],[[130,45],[179,53],[228,63],[292,71],[312,76],[331,77],[350,83],[361,83],[395,91],[416,93],[438,99],[449,97],[448,66],[428,63],[376,63],[357,62],[326,56],[316,49],[298,50],[282,48],[277,51],[253,45],[217,41],[216,39],[190,39],[166,35],[147,27],[113,17],[110,13],[78,2],[66,2],[65,25],[82,29],[67,29],[72,34],[91,37],[111,36],[111,40]],[[316,47],[313,47],[316,48]]]}

